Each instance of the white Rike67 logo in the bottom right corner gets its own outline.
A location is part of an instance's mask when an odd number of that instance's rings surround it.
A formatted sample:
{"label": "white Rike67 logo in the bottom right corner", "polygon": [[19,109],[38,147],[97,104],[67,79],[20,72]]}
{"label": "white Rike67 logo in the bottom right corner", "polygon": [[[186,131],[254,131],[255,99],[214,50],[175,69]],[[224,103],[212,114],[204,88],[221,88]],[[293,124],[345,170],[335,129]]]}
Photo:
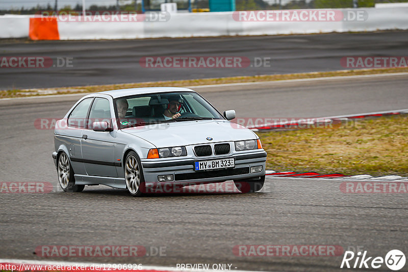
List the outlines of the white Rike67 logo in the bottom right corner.
{"label": "white Rike67 logo in the bottom right corner", "polygon": [[[355,257],[355,258],[354,258]],[[391,250],[387,253],[385,258],[369,257],[367,251],[354,254],[352,251],[344,253],[340,268],[380,268],[384,263],[391,270],[397,271],[405,265],[405,255],[400,250]]]}

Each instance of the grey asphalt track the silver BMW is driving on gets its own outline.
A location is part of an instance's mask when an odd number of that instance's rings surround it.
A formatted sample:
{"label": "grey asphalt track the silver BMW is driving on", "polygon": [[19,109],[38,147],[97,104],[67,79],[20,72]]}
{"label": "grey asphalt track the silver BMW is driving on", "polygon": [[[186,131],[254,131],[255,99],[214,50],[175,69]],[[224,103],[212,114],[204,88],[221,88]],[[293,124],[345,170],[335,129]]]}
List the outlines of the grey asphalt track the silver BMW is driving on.
{"label": "grey asphalt track the silver BMW is driving on", "polygon": [[[321,117],[408,108],[407,83],[407,75],[398,75],[194,89],[221,111],[235,108],[239,117]],[[385,257],[393,249],[408,254],[408,195],[343,194],[338,180],[267,177],[254,194],[132,198],[106,186],[63,193],[51,157],[53,130],[36,129],[34,121],[61,118],[79,97],[0,101],[0,181],[54,185],[49,194],[1,194],[0,258],[327,271],[337,270],[342,256],[240,257],[233,248],[326,244],[360,246],[369,256]],[[33,254],[42,245],[165,247],[166,256]]]}

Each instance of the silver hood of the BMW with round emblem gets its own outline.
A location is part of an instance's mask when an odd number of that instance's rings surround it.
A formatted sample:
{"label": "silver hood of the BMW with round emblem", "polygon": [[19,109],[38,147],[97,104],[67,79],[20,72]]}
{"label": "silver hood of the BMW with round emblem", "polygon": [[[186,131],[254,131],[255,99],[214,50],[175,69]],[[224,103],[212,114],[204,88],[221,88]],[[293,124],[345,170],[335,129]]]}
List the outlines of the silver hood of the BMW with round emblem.
{"label": "silver hood of the BMW with round emblem", "polygon": [[[225,120],[171,122],[125,128],[122,131],[140,137],[158,148],[258,138],[244,126]],[[212,140],[207,140],[208,137]]]}

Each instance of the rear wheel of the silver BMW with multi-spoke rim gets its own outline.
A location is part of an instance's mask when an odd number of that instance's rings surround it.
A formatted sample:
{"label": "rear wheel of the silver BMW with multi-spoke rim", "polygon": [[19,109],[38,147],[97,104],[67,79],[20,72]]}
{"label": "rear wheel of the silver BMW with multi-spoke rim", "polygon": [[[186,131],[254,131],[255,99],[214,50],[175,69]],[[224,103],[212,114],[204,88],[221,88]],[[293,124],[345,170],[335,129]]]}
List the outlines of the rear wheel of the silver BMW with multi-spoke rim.
{"label": "rear wheel of the silver BMW with multi-spoke rim", "polygon": [[74,172],[65,152],[61,152],[58,156],[57,173],[62,191],[79,193],[84,190],[85,185],[75,185]]}

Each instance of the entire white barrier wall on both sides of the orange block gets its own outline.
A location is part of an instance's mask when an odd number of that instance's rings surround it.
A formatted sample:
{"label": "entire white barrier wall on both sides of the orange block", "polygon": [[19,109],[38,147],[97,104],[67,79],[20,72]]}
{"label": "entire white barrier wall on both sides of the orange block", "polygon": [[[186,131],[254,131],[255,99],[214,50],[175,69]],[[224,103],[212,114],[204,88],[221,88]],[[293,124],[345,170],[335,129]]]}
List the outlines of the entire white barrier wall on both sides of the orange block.
{"label": "entire white barrier wall on both sides of the orange block", "polygon": [[[349,31],[407,30],[408,8],[338,9],[364,12],[366,20],[237,21],[233,12],[168,14],[165,21],[58,21],[61,40],[182,38],[236,35],[312,34]],[[29,16],[0,16],[0,38],[29,34]]]}

